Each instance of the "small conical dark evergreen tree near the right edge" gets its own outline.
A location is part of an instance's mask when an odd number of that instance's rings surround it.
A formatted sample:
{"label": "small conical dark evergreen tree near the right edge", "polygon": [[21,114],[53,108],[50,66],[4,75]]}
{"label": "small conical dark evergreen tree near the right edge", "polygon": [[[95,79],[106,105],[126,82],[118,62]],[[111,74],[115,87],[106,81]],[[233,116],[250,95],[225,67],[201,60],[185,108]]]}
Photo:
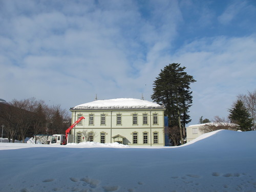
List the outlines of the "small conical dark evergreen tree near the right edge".
{"label": "small conical dark evergreen tree near the right edge", "polygon": [[242,131],[251,131],[253,126],[252,118],[240,99],[237,100],[237,102],[234,103],[233,108],[228,111],[230,112],[228,118],[231,123],[238,124]]}

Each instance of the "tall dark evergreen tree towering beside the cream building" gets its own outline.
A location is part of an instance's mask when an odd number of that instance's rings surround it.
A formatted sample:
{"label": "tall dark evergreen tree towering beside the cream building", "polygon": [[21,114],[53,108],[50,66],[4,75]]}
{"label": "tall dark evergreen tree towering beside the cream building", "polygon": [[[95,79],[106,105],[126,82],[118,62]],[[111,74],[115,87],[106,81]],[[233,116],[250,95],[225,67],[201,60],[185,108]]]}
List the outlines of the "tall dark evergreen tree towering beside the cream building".
{"label": "tall dark evergreen tree towering beside the cream building", "polygon": [[185,124],[191,121],[188,109],[193,97],[189,86],[190,83],[196,81],[193,76],[184,72],[185,69],[185,67],[180,67],[179,63],[165,66],[154,81],[151,96],[155,102],[165,106],[169,125],[180,127],[182,143],[182,135],[185,136]]}

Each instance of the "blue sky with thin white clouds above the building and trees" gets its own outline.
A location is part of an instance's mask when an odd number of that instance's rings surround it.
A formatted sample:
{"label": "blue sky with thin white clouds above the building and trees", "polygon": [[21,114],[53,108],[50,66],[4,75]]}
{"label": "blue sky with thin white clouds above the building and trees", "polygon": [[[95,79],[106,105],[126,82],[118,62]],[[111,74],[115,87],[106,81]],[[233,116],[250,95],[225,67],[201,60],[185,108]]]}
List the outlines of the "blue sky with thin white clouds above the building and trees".
{"label": "blue sky with thin white clouds above the building and trees", "polygon": [[191,123],[227,117],[256,89],[255,1],[0,0],[0,98],[63,109],[98,99],[151,100],[153,82],[181,63]]}

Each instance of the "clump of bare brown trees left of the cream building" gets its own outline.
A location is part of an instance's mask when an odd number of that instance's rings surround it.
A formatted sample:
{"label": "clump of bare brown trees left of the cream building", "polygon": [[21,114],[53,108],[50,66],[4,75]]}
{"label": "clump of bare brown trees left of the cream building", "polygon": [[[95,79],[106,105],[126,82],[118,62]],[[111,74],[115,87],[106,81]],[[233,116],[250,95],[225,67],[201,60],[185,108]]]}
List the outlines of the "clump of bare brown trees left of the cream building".
{"label": "clump of bare brown trees left of the cream building", "polygon": [[[3,100],[3,99],[2,99]],[[25,141],[34,135],[65,134],[71,123],[68,111],[60,105],[48,106],[35,98],[0,102],[0,123],[4,125],[4,138]]]}

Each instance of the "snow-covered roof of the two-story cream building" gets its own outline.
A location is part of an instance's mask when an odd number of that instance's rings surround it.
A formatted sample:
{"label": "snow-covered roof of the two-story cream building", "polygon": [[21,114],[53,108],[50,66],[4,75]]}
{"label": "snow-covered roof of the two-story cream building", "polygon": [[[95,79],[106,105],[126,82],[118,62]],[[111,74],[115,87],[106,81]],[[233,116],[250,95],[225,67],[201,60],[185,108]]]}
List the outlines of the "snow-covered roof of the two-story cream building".
{"label": "snow-covered roof of the two-story cream building", "polygon": [[140,109],[140,108],[159,108],[164,109],[163,106],[146,100],[132,99],[132,98],[119,98],[108,100],[95,100],[89,103],[79,104],[71,110],[83,109]]}

